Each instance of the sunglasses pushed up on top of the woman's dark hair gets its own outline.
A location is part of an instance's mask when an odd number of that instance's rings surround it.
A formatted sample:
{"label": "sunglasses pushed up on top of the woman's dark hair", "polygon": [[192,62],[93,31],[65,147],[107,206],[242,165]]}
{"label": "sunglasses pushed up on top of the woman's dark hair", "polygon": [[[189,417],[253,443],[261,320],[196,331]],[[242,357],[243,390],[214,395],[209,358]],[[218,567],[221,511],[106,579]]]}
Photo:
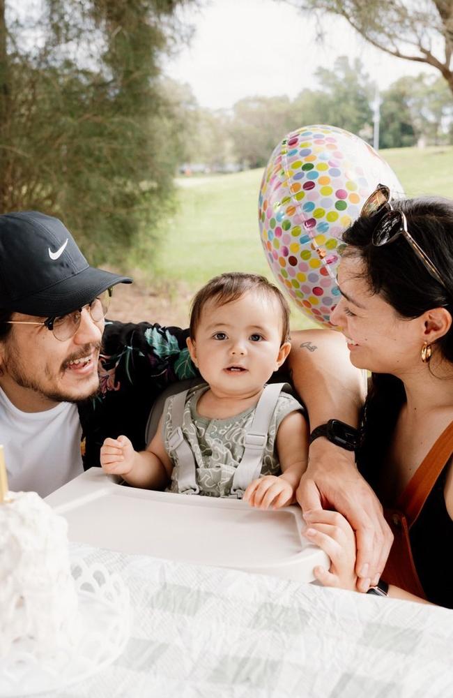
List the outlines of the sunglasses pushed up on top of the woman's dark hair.
{"label": "sunglasses pushed up on top of the woman's dark hair", "polygon": [[385,184],[378,184],[374,192],[370,194],[364,202],[360,215],[369,218],[383,211],[386,211],[386,213],[380,218],[371,237],[371,242],[374,246],[382,247],[390,242],[394,242],[399,235],[402,235],[410,244],[411,248],[413,248],[413,251],[420,261],[423,262],[427,272],[447,290],[447,286],[436,269],[436,266],[431,262],[427,253],[415,242],[412,235],[410,235],[408,231],[408,221],[403,211],[398,211],[392,207],[390,203],[390,189],[385,186]]}

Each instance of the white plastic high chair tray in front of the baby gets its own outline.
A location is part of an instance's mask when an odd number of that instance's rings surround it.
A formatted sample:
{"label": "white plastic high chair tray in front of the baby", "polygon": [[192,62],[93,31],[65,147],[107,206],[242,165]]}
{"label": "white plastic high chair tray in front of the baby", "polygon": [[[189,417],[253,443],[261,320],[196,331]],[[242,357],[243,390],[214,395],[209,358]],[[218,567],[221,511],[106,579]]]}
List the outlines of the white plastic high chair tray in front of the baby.
{"label": "white plastic high chair tray in front of the baby", "polygon": [[328,557],[301,535],[299,507],[261,511],[241,500],[124,487],[91,468],[46,498],[71,541],[128,554],[314,580]]}

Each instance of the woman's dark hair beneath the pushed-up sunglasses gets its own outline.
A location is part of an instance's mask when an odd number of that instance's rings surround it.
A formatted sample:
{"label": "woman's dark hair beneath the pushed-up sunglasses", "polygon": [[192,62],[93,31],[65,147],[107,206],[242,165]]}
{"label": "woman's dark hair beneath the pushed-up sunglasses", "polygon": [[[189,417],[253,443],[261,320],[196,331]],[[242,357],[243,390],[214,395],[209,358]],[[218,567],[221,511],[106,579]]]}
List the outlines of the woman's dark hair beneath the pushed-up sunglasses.
{"label": "woman's dark hair beneath the pushed-up sunglasses", "polygon": [[[410,236],[436,266],[445,287],[429,274],[408,241],[400,235],[394,242],[374,246],[371,235],[376,217],[358,218],[343,235],[348,244],[344,255],[356,255],[364,263],[363,278],[403,318],[417,318],[431,308],[443,306],[453,315],[453,200],[423,197],[392,202],[403,211]],[[453,363],[453,328],[436,345]],[[404,385],[396,376],[372,374],[365,406],[366,438],[362,460],[371,470],[385,457],[401,406]],[[365,473],[373,482],[371,472]]]}

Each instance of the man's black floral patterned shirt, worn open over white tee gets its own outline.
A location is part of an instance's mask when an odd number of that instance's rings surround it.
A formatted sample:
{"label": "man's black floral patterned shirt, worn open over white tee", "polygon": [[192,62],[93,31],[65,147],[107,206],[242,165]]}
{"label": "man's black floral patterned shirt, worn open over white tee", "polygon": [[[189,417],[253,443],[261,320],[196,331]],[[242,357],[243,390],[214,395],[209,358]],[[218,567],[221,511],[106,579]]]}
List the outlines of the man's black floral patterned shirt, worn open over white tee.
{"label": "man's black floral patterned shirt, worn open over white tee", "polygon": [[169,383],[197,376],[186,329],[107,320],[99,359],[100,390],[79,403],[84,468],[99,466],[107,436],[125,434],[144,450],[151,407]]}

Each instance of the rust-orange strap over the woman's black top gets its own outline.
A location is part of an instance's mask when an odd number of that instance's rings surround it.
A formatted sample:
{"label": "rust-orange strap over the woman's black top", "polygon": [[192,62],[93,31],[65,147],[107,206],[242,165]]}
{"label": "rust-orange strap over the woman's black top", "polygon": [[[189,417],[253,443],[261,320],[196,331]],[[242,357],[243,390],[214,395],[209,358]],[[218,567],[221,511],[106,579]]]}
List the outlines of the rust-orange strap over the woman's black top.
{"label": "rust-orange strap over the woman's black top", "polygon": [[397,499],[396,507],[406,514],[409,526],[417,520],[431,489],[452,454],[453,422],[450,422]]}

